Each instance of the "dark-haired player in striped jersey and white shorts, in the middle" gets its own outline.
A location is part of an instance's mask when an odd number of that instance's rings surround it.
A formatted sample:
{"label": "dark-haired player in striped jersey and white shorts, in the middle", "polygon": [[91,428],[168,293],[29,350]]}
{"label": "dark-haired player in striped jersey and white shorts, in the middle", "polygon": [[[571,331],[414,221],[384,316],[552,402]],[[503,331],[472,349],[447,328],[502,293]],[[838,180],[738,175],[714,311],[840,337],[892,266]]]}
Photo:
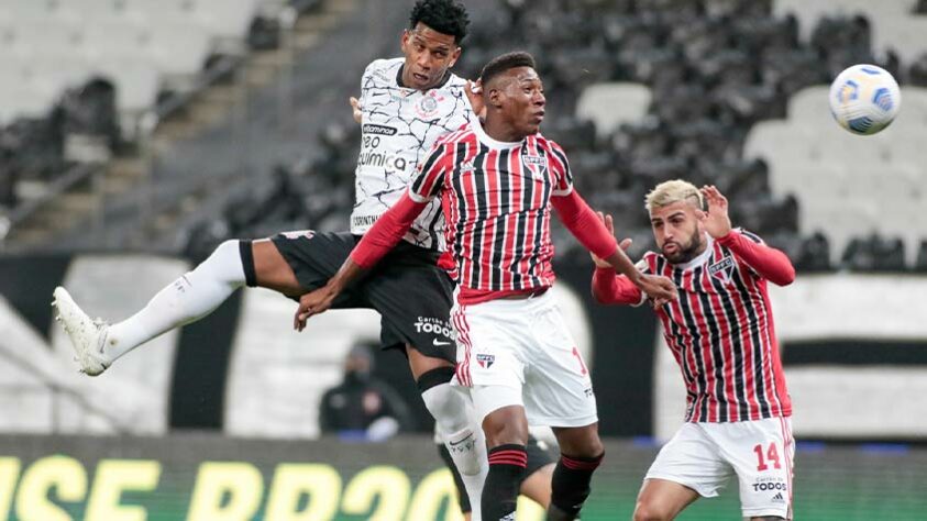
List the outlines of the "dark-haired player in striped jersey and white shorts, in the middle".
{"label": "dark-haired player in striped jersey and white shorts, in the middle", "polygon": [[675,287],[639,271],[573,189],[563,149],[538,132],[545,99],[531,55],[499,56],[481,79],[485,125],[473,119],[438,141],[402,199],[338,274],[300,299],[294,325],[302,329],[350,291],[440,197],[445,260],[457,282],[451,312],[456,383],[470,388],[489,447],[483,519],[515,519],[530,422],[553,428],[561,450],[548,519],[572,520],[604,448],[588,370],[548,292],[554,281],[551,207],[589,251],[658,302],[674,298]]}

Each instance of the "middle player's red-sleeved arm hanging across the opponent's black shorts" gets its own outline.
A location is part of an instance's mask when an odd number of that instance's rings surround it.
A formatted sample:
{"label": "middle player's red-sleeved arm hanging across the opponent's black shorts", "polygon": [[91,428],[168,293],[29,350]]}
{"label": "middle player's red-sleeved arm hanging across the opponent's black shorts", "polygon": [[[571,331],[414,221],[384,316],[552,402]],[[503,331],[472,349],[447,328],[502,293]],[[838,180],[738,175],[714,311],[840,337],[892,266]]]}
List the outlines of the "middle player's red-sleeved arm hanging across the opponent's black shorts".
{"label": "middle player's red-sleeved arm hanging across the opponent's black shorts", "polygon": [[299,298],[299,307],[293,318],[293,328],[302,331],[309,318],[328,311],[344,288],[373,268],[396,246],[427,204],[428,201],[413,201],[406,192],[393,208],[380,215],[328,284]]}

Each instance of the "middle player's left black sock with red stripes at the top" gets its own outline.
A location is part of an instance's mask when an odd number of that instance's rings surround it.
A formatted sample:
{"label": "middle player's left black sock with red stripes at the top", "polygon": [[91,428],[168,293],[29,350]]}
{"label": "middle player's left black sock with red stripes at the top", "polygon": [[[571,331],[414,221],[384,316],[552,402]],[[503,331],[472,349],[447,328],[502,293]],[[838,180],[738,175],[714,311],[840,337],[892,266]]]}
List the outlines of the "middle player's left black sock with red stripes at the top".
{"label": "middle player's left black sock with red stripes at the top", "polygon": [[525,445],[516,443],[489,450],[489,474],[483,486],[483,521],[515,519],[518,487],[528,465]]}

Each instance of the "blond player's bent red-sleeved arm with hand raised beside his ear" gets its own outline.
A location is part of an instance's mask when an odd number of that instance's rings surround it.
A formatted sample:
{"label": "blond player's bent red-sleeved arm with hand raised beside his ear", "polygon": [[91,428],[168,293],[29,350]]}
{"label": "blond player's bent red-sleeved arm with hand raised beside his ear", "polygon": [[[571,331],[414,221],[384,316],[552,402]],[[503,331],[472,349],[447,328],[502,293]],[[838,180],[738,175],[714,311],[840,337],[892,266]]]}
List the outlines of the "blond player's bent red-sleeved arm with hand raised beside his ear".
{"label": "blond player's bent red-sleeved arm with hand raised beside his ear", "polygon": [[761,277],[777,285],[787,286],[795,280],[795,267],[785,253],[753,241],[731,229],[728,215],[728,200],[714,186],[702,188],[708,202],[704,214],[705,230],[721,245],[730,248]]}

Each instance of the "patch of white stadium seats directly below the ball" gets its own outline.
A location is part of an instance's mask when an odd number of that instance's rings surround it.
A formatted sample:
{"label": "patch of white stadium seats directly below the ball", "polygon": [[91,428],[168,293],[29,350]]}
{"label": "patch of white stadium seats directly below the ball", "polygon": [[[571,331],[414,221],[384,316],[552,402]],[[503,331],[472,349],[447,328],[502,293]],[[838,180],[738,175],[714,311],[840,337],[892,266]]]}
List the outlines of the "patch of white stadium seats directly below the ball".
{"label": "patch of white stadium seats directly below the ball", "polygon": [[[746,157],[764,157],[774,193],[794,193],[801,230],[824,231],[835,258],[861,234],[901,236],[908,265],[927,226],[916,218],[927,182],[927,90],[902,90],[904,112],[880,134],[861,138],[829,120],[827,87],[792,97],[788,119],[762,122],[748,135]],[[843,256],[843,258],[847,258]]]}

